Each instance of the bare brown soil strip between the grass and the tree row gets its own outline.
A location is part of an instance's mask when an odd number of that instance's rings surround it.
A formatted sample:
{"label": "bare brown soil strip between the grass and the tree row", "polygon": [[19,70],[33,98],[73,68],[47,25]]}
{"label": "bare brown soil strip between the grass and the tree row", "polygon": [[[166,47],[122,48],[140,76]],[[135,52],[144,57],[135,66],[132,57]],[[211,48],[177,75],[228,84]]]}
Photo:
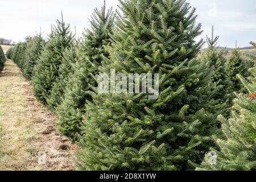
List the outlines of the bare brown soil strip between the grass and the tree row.
{"label": "bare brown soil strip between the grass and the tree row", "polygon": [[32,145],[46,152],[46,165],[38,165],[38,156],[32,161],[35,163],[35,169],[40,170],[73,170],[73,150],[75,144],[61,137],[56,131],[56,115],[47,110],[45,106],[35,100],[32,94],[32,87],[29,82],[22,86],[26,94],[25,105],[28,108],[28,117],[30,117],[36,130],[35,139]]}

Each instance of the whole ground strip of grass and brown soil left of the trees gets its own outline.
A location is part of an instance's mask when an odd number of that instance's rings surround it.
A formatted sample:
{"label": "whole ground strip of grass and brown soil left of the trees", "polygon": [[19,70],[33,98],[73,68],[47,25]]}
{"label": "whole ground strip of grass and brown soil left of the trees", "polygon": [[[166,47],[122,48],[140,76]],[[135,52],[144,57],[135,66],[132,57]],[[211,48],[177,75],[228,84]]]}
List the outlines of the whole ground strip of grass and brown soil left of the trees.
{"label": "whole ground strip of grass and brown soil left of the trees", "polygon": [[[0,74],[0,170],[73,170],[76,148],[11,60]],[[44,160],[46,159],[46,160]]]}

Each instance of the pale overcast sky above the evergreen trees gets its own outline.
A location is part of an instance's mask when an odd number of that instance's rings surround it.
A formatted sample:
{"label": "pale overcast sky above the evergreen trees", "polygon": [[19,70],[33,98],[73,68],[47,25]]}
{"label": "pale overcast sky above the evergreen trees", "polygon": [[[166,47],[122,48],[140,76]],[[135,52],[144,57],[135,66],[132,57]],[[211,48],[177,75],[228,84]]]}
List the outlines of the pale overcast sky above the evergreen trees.
{"label": "pale overcast sky above the evergreen trees", "polygon": [[[256,1],[255,0],[188,0],[196,7],[199,15],[197,22],[203,25],[204,33],[210,34],[214,25],[215,34],[220,35],[219,46],[249,46],[250,40],[256,41]],[[103,0],[0,0],[0,37],[23,41],[27,35],[33,35],[42,27],[45,35],[51,24],[61,18],[76,26],[80,36],[84,27],[89,27],[89,16],[95,7],[101,7]],[[106,0],[107,6],[117,8],[118,0]]]}

